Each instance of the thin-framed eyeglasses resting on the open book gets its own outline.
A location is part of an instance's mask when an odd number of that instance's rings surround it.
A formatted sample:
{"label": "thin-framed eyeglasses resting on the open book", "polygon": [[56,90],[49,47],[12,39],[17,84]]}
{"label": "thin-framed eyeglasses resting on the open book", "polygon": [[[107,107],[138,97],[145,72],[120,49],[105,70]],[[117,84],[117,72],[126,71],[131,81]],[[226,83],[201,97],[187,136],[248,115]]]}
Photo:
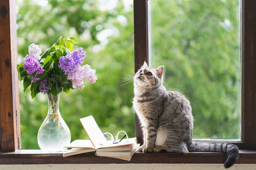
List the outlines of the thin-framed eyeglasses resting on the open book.
{"label": "thin-framed eyeglasses resting on the open book", "polygon": [[[118,139],[118,136],[119,136],[119,134],[122,134],[122,133],[124,133],[124,135],[122,136],[122,138],[121,139]],[[125,143],[127,143],[128,142],[128,135],[127,135],[127,133],[125,132],[125,131],[123,131],[123,130],[120,130],[118,133],[117,133],[117,135],[115,136],[115,138],[114,138],[114,136],[111,134],[111,133],[109,133],[109,132],[105,132],[105,133],[103,133],[103,136],[104,136],[104,140],[105,141],[107,141],[106,143],[103,143],[102,145],[111,145],[111,144],[125,144]]]}

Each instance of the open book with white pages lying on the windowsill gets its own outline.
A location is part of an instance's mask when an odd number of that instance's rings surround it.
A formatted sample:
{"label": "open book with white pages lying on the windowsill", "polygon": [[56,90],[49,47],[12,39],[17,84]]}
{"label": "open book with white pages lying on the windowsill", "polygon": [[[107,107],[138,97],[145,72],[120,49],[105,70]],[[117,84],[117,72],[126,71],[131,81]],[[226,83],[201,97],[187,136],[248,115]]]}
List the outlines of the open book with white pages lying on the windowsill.
{"label": "open book with white pages lying on the windowsill", "polygon": [[140,147],[140,144],[137,144],[136,138],[123,139],[122,143],[109,144],[93,116],[81,118],[80,121],[90,140],[75,140],[71,142],[65,147],[72,149],[63,153],[63,157],[96,151],[97,156],[130,161],[133,154]]}

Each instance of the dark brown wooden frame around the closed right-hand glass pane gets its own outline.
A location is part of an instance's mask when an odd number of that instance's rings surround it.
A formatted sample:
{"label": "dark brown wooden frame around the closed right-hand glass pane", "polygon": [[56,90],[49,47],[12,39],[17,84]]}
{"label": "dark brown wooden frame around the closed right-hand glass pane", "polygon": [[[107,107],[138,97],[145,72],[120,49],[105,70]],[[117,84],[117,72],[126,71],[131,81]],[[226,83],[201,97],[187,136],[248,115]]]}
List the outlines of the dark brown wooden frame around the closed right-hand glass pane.
{"label": "dark brown wooden frame around the closed right-hand glass pane", "polygon": [[[239,149],[255,150],[256,136],[256,1],[241,0],[241,140],[197,140],[230,142]],[[135,73],[149,60],[148,0],[134,0],[134,67]],[[255,67],[254,67],[255,66]],[[254,76],[253,76],[254,75]],[[136,137],[143,135],[136,116]]]}

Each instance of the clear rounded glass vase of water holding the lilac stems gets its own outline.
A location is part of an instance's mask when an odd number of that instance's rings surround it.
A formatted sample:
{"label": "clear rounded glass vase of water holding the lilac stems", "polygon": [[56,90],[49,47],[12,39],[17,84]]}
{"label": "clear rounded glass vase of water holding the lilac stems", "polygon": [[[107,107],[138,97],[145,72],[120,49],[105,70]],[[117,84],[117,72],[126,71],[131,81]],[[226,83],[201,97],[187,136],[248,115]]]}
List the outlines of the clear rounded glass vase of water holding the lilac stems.
{"label": "clear rounded glass vase of water holding the lilac stems", "polygon": [[48,113],[38,131],[38,145],[47,152],[61,152],[67,150],[65,145],[70,144],[71,134],[66,122],[59,111],[59,98],[48,95]]}

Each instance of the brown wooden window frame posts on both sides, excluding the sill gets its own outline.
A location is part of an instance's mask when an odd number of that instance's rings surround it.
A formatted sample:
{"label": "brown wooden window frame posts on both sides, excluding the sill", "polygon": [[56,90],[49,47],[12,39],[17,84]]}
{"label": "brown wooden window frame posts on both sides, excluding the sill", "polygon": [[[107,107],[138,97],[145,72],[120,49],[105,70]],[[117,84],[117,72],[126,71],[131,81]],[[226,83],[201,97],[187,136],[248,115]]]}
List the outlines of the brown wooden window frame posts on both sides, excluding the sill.
{"label": "brown wooden window frame posts on both sides, excluding the sill", "polygon": [[[15,8],[15,0],[0,1],[0,23],[4,23],[0,24],[0,152],[21,149]],[[256,131],[255,8],[254,0],[241,0],[241,141],[220,141],[232,142],[246,150],[256,150],[256,136],[251,134]],[[134,0],[135,72],[144,61],[149,63],[148,42],[148,0]],[[136,137],[142,143],[137,117],[135,124]]]}

